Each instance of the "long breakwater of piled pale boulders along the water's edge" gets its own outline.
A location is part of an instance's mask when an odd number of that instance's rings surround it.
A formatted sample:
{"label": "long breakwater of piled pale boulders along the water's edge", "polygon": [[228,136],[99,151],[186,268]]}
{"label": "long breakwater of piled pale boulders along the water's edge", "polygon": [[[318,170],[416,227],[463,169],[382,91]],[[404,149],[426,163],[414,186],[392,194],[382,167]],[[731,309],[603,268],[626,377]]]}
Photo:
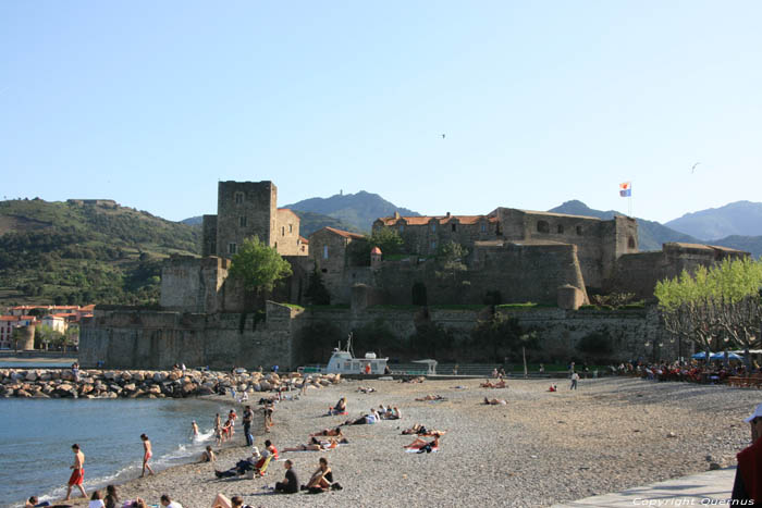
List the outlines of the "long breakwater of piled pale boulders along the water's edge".
{"label": "long breakwater of piled pale boulders along the water's edge", "polygon": [[82,370],[78,376],[61,369],[2,369],[0,397],[22,398],[183,398],[199,395],[317,389],[341,382],[340,374],[200,370]]}

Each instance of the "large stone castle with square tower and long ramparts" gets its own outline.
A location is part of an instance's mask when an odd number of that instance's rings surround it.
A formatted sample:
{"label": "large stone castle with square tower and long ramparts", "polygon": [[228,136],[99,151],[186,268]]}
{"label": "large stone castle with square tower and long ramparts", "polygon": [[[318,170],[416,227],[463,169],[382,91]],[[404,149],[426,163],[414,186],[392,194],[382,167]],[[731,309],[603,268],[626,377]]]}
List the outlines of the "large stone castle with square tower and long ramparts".
{"label": "large stone castle with square tower and long ramparts", "polygon": [[[393,228],[404,241],[405,253],[386,259],[378,248],[371,251],[374,246],[358,248],[367,238],[355,233],[324,227],[308,239],[302,237],[299,218],[278,208],[272,182],[220,182],[218,193],[218,214],[204,216],[204,257],[164,262],[162,310],[97,307],[95,318],[83,325],[83,364],[159,368],[183,360],[218,367],[295,367],[297,337],[310,323],[329,321],[348,333],[380,319],[407,337],[425,319],[467,335],[482,318],[465,307],[487,301],[552,307],[523,312],[518,319],[546,334],[545,347],[560,357],[570,355],[575,343],[591,333],[610,335],[623,360],[650,357],[653,351],[646,345],[663,344],[655,309],[578,310],[589,295],[635,293],[649,299],[659,280],[746,255],[689,244],[640,252],[638,225],[631,218],[600,220],[497,208],[483,215],[380,218],[373,230]],[[270,296],[291,306],[268,301],[263,320],[250,312],[241,286],[228,278],[230,258],[254,235],[293,268],[293,275]],[[447,273],[435,253],[451,241],[468,253],[460,260],[462,270]],[[314,273],[328,289],[330,307],[309,307]],[[421,314],[415,306],[423,303],[429,310]],[[454,303],[464,310],[446,309]],[[660,352],[672,358],[677,354],[668,347]]]}

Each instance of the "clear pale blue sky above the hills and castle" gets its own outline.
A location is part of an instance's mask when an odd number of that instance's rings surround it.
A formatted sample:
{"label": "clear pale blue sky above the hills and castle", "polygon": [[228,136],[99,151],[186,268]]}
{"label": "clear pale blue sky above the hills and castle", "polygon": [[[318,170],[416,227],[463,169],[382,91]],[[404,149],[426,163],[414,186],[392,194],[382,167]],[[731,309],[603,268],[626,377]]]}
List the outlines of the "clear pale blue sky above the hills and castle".
{"label": "clear pale blue sky above the hills and castle", "polygon": [[214,213],[218,179],[428,214],[627,211],[626,181],[661,222],[762,201],[760,20],[759,1],[5,0],[0,197],[170,220]]}

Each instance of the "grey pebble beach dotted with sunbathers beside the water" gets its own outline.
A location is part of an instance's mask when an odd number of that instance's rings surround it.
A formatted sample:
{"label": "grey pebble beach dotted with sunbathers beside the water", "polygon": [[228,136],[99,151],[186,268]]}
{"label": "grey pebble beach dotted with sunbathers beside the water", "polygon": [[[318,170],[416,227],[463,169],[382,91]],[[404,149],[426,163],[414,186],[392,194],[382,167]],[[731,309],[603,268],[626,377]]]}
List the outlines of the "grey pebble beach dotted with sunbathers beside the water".
{"label": "grey pebble beach dotted with sunbathers beside the water", "polygon": [[[556,380],[556,393],[548,392],[548,380],[508,380],[507,388],[496,389],[479,387],[481,381],[344,380],[278,404],[274,429],[256,436],[260,448],[265,438],[279,449],[306,443],[310,433],[380,404],[402,410],[402,420],[343,428],[349,444],[337,449],[281,454],[294,461],[302,483],[327,457],[342,491],[272,494],[266,486],[283,479],[282,460],[263,478],[217,479],[214,468],[250,455],[238,426],[234,444],[241,446],[223,449],[217,463],[130,481],[119,487],[120,497],[158,504],[167,493],[186,508],[208,508],[218,493],[263,507],[551,506],[708,471],[711,462],[735,464],[735,454],[750,439],[743,418],[762,399],[754,389],[632,377],[581,380],[577,391]],[[361,394],[359,386],[377,392]],[[445,400],[415,400],[428,394]],[[325,416],[341,396],[349,416]],[[488,406],[484,397],[507,404]],[[401,432],[414,423],[447,431],[439,451],[405,453],[415,436]],[[81,498],[70,503],[87,506]]]}

